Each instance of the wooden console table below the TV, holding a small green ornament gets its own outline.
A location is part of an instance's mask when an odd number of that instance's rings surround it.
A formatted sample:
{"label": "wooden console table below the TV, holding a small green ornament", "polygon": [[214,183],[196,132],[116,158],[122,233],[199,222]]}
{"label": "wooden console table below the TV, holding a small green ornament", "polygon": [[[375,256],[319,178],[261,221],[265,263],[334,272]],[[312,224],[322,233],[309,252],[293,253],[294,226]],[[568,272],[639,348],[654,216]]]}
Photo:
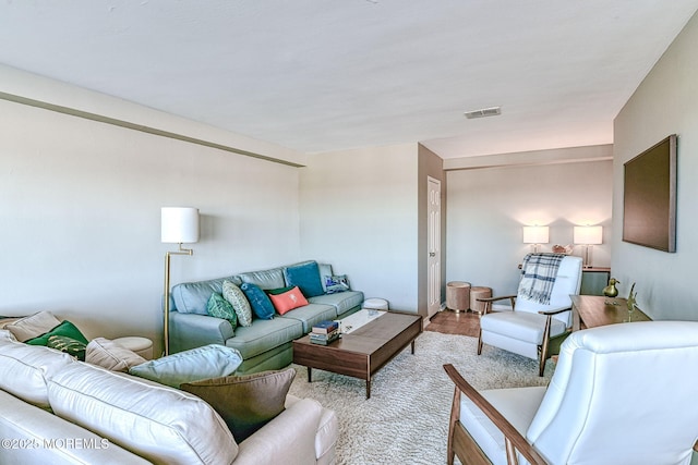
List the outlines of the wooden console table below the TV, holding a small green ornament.
{"label": "wooden console table below the TV, holding a small green ornament", "polygon": [[627,321],[651,321],[639,308],[628,315],[627,301],[600,295],[570,295],[573,331]]}

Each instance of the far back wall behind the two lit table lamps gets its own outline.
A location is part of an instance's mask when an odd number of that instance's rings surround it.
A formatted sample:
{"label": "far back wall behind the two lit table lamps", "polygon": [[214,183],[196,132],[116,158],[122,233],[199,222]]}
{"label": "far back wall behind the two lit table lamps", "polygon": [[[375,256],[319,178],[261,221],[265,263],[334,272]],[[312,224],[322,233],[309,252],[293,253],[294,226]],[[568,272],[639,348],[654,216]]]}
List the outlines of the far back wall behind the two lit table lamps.
{"label": "far back wall behind the two lit table lamps", "polygon": [[[589,147],[590,152],[610,146]],[[583,148],[559,149],[583,151]],[[527,154],[520,154],[526,157]],[[562,154],[564,158],[564,154]],[[483,163],[486,166],[486,163]],[[456,170],[447,173],[446,280],[493,289],[494,295],[516,294],[518,265],[531,252],[522,243],[524,225],[550,225],[554,244],[573,243],[573,228],[600,224],[604,244],[591,253],[593,266],[611,262],[612,161],[512,166]],[[582,248],[576,246],[575,255]]]}

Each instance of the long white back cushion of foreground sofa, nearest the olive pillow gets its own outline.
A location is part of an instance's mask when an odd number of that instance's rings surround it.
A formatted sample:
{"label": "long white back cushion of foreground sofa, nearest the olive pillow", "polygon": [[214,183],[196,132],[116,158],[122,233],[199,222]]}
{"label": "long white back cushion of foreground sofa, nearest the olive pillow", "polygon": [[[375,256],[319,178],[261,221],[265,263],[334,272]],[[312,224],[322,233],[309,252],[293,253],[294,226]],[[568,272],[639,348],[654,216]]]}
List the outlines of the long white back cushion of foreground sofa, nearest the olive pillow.
{"label": "long white back cushion of foreground sofa, nearest the olive pillow", "polygon": [[238,446],[203,400],[83,363],[48,380],[53,413],[154,463],[230,464]]}

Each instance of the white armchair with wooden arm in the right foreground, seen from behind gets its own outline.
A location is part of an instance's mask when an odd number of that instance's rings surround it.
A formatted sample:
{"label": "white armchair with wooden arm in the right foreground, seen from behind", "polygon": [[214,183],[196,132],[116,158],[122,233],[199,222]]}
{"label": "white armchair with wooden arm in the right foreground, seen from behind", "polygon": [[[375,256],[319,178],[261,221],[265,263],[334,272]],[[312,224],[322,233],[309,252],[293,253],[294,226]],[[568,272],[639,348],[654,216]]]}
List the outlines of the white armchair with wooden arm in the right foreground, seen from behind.
{"label": "white armchair with wooden arm in the right foreground, seen from behind", "polygon": [[444,365],[456,384],[447,463],[688,465],[696,366],[698,321],[576,331],[547,388],[479,392]]}

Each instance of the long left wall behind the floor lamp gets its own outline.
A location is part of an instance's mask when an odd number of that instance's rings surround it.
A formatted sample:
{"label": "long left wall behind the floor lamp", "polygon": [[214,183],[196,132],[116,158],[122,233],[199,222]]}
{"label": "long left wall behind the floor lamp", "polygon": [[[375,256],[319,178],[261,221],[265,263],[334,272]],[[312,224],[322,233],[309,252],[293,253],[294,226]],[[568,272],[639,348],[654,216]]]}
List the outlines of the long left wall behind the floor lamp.
{"label": "long left wall behind the floor lamp", "polygon": [[[203,134],[196,123],[4,71],[3,86],[40,83],[35,94],[23,86],[25,97],[67,105],[72,96],[101,114]],[[160,243],[163,206],[203,216],[194,255],[172,258],[172,284],[299,259],[298,168],[2,100],[0,127],[0,315],[46,309],[89,338],[145,335],[159,345],[164,255],[177,248]],[[268,144],[239,148],[288,155]]]}

